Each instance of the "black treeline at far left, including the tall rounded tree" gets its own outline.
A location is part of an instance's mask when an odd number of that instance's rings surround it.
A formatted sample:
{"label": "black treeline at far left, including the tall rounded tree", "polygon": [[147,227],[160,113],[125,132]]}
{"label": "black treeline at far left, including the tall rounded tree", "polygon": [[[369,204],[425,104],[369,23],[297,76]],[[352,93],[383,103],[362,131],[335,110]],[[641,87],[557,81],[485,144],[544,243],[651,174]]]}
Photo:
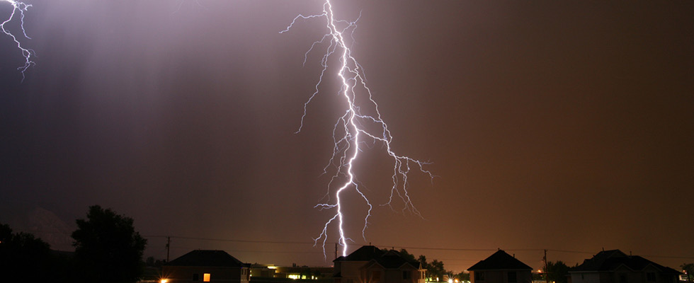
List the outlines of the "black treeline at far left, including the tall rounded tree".
{"label": "black treeline at far left, including the tall rounded tree", "polygon": [[132,219],[98,205],[77,219],[75,252],[51,250],[30,233],[0,224],[0,274],[7,282],[137,282],[144,272],[147,240]]}

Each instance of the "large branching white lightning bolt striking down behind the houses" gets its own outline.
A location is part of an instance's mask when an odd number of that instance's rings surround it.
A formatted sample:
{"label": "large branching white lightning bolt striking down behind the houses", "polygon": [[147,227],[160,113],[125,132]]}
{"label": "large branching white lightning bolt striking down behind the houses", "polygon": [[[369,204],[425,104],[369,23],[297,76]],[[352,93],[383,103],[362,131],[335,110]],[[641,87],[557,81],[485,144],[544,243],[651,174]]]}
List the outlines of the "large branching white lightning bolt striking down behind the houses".
{"label": "large branching white lightning bolt striking down behind the houses", "polygon": [[[358,181],[356,180],[355,173],[353,171],[354,161],[357,160],[358,154],[362,151],[365,141],[370,141],[372,143],[380,143],[385,147],[386,153],[392,158],[394,162],[392,181],[393,185],[390,190],[390,197],[388,202],[381,204],[382,206],[388,206],[391,209],[393,197],[397,197],[404,203],[403,212],[411,212],[421,217],[419,210],[414,207],[412,201],[407,192],[407,176],[410,172],[410,166],[415,166],[419,171],[429,175],[433,179],[431,172],[424,170],[423,166],[429,164],[428,162],[419,161],[408,156],[399,156],[391,148],[392,135],[388,129],[386,123],[382,120],[380,111],[378,110],[378,105],[371,95],[370,88],[366,85],[366,79],[363,72],[363,68],[357,62],[357,60],[352,57],[350,47],[346,45],[344,35],[349,33],[352,35],[355,28],[357,28],[356,22],[358,21],[343,21],[336,20],[334,17],[333,7],[330,0],[326,0],[323,4],[323,12],[312,15],[303,16],[299,15],[294,18],[292,23],[285,29],[280,31],[280,33],[288,32],[292,26],[295,25],[297,20],[309,20],[312,18],[325,18],[326,28],[328,33],[323,35],[320,40],[313,42],[309,50],[305,54],[304,64],[306,64],[306,58],[308,53],[311,52],[314,47],[319,45],[328,45],[326,52],[322,57],[321,65],[323,67],[321,75],[319,76],[318,83],[316,83],[315,91],[312,96],[304,104],[304,114],[301,117],[301,123],[297,132],[300,132],[304,126],[304,119],[306,117],[306,110],[311,103],[311,101],[318,95],[319,87],[323,81],[323,76],[328,69],[329,58],[334,55],[339,55],[339,62],[341,66],[337,71],[337,76],[341,79],[341,89],[339,95],[345,98],[346,110],[345,114],[339,117],[335,123],[333,129],[333,139],[335,142],[333,148],[333,155],[331,156],[328,165],[324,168],[324,173],[327,173],[331,166],[335,167],[336,173],[331,178],[328,184],[328,192],[323,200],[326,202],[317,204],[315,207],[319,209],[335,209],[336,213],[329,219],[323,226],[318,238],[314,238],[314,243],[319,243],[322,240],[323,254],[325,255],[325,244],[328,238],[328,227],[333,221],[337,221],[337,227],[339,229],[339,244],[342,247],[342,255],[347,255],[347,241],[351,240],[346,236],[345,229],[343,229],[344,224],[344,213],[343,213],[343,202],[341,201],[341,194],[346,190],[353,189],[354,192],[358,193],[362,197],[368,208],[366,216],[364,219],[364,226],[362,229],[362,237],[366,241],[365,230],[368,226],[368,220],[371,216],[371,211],[373,206],[369,201],[368,197],[360,190]],[[358,96],[355,88],[363,88],[363,93]],[[365,104],[361,104],[365,103]],[[371,111],[372,114],[364,114],[362,111]],[[373,130],[373,128],[377,130]],[[365,139],[365,141],[362,141]],[[342,183],[334,192],[335,200],[331,202],[330,192],[334,181],[340,178],[346,178],[347,180]]]}

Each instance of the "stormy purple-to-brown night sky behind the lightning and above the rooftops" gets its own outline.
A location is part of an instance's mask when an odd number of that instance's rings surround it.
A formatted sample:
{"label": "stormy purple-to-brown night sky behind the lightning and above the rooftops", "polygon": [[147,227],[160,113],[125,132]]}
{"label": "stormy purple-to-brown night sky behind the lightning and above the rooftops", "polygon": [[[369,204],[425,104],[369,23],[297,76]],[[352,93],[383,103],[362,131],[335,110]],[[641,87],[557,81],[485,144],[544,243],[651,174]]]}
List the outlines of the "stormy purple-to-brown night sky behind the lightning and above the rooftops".
{"label": "stormy purple-to-brown night sky behind the lightning and above the rooftops", "polygon": [[[694,2],[334,1],[338,18],[361,12],[353,56],[394,150],[438,176],[410,175],[423,219],[377,206],[366,241],[349,226],[351,250],[407,247],[455,271],[497,248],[534,268],[545,248],[588,252],[550,251],[569,265],[602,248],[694,261]],[[23,82],[0,36],[0,222],[69,238],[100,204],[144,236],[292,242],[173,238],[172,258],[331,264],[334,230],[327,262],[308,243],[332,216],[314,205],[343,115],[334,74],[294,134],[325,22],[278,33],[322,1],[27,2]],[[360,173],[382,204],[377,149]],[[164,244],[149,237],[145,256]]]}

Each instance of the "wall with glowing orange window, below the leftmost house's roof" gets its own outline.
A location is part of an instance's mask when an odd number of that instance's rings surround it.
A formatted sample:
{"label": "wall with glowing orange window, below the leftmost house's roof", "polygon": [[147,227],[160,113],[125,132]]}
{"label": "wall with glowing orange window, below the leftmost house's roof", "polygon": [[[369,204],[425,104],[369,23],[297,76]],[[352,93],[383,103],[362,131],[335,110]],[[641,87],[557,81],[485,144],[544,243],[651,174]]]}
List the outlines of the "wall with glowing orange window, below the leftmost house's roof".
{"label": "wall with glowing orange window, below the leftmost house's roof", "polygon": [[[249,283],[249,269],[246,267],[198,267],[198,266],[164,266],[162,277],[170,283],[200,283],[205,273],[210,274],[210,282]],[[198,275],[198,281],[193,276]]]}

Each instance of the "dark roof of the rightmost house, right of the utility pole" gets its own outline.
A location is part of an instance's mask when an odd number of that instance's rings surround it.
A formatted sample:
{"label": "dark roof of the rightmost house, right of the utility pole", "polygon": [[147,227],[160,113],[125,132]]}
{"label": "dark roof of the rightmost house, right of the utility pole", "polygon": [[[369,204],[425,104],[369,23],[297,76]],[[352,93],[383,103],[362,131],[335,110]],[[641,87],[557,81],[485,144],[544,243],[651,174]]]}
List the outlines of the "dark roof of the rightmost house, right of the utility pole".
{"label": "dark roof of the rightmost house, right of the utility pole", "polygon": [[681,274],[670,267],[664,267],[638,255],[627,255],[621,250],[603,250],[593,255],[593,258],[584,260],[583,264],[572,268],[571,272],[613,271],[622,266],[630,270],[642,271],[649,265],[665,274]]}

